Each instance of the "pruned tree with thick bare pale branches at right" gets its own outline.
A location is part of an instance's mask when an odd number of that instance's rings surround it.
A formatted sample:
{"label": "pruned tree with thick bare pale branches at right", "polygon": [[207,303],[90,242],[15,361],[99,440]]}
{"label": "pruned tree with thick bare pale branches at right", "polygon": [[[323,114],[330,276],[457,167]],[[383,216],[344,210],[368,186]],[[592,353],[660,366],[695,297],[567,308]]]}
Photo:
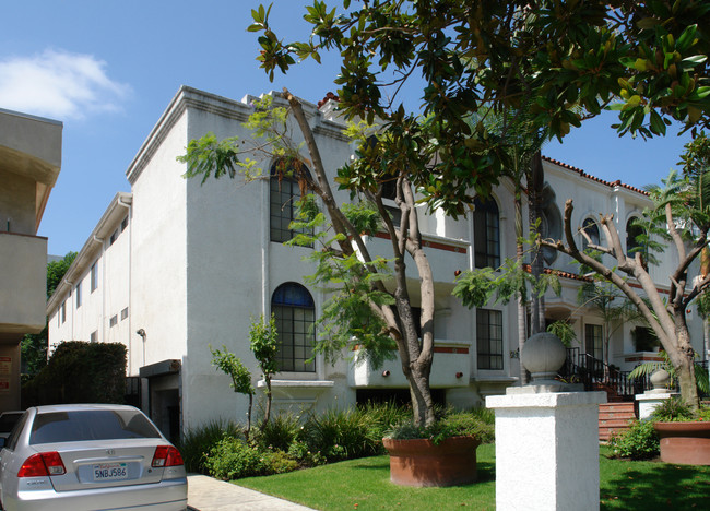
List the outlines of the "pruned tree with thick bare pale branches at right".
{"label": "pruned tree with thick bare pale branches at right", "polygon": [[[708,245],[710,230],[710,144],[700,134],[686,145],[683,155],[683,175],[675,171],[663,181],[663,187],[650,189],[654,207],[644,212],[642,250],[624,247],[613,215],[601,214],[604,243],[590,248],[605,255],[597,260],[580,250],[575,241],[576,229],[571,218],[573,205],[565,204],[565,238],[542,240],[541,245],[570,255],[614,284],[637,307],[665,349],[681,385],[682,397],[699,406],[695,375],[696,353],[690,343],[686,311],[690,304],[710,285],[710,274],[693,278],[690,265]],[[659,241],[660,240],[660,241]],[[666,241],[666,243],[663,243]],[[673,250],[677,265],[668,275],[668,297],[664,299],[649,274],[653,252]],[[606,262],[613,262],[607,264]],[[639,293],[628,277],[641,286]]]}

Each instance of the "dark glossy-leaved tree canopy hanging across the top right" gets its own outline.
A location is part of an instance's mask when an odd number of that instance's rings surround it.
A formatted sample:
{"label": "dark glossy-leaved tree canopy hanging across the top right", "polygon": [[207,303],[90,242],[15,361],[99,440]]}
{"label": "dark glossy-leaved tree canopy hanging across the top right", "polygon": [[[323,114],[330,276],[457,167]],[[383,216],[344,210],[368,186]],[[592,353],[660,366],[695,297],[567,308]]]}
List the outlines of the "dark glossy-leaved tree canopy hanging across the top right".
{"label": "dark glossy-leaved tree canopy hanging across the top right", "polygon": [[[339,9],[317,0],[306,7],[312,29],[300,41],[277,36],[270,10],[253,10],[249,26],[260,33],[258,60],[270,78],[340,54],[343,115],[384,119],[394,143],[428,152],[433,163],[412,182],[430,207],[452,215],[511,168],[505,130],[469,122],[482,107],[530,100],[535,124],[558,139],[604,108],[618,110],[619,134],[662,135],[672,121],[710,127],[708,2],[344,0]],[[424,121],[398,97],[416,84]],[[347,178],[363,180],[356,166]]]}

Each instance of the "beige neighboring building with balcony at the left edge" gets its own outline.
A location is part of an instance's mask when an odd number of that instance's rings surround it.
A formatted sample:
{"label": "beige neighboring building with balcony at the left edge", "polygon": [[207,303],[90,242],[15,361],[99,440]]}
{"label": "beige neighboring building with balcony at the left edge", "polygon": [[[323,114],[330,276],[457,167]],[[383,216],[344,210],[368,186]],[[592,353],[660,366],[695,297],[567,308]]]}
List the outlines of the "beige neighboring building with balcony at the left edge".
{"label": "beige neighboring building with balcony at the left edge", "polygon": [[20,408],[20,343],[46,324],[47,238],[61,122],[0,109],[0,412]]}

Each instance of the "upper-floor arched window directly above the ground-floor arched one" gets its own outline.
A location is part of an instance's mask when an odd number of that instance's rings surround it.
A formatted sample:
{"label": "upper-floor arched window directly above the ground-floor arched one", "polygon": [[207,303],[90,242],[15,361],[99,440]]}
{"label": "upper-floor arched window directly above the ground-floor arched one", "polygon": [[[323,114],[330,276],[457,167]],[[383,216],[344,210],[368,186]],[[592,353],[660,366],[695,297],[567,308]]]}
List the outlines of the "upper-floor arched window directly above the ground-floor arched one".
{"label": "upper-floor arched window directly above the ground-floor arched one", "polygon": [[291,223],[296,219],[297,202],[301,197],[298,181],[292,177],[293,171],[293,166],[287,165],[283,159],[275,162],[271,167],[269,202],[272,241],[283,243],[297,234],[288,228]]}

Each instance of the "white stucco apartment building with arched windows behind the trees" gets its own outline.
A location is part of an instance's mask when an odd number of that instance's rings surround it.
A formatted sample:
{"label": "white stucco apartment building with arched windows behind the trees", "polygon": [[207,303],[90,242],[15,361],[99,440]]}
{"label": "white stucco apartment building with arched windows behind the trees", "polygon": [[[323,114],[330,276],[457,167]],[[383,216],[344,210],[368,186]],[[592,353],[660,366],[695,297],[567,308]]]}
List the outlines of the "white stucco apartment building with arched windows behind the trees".
{"label": "white stucco apartment building with arched windows behind the trees", "polygon": [[[283,245],[292,236],[296,183],[223,178],[201,185],[182,177],[186,166],[176,156],[190,140],[208,131],[220,139],[249,138],[242,123],[253,99],[236,102],[181,87],[127,170],[131,193],[111,201],[48,304],[50,349],[69,340],[126,344],[129,376],[143,382],[143,406],[171,436],[209,419],[245,416],[246,399],[232,392],[227,377],[211,365],[210,346],[226,345],[248,363],[258,383],[248,332],[262,313],[276,316],[282,342],[283,370],[273,383],[276,408],[322,409],[406,395],[397,360],[379,369],[346,360],[331,366],[319,355],[310,360],[309,326],[324,297],[306,283],[313,266],[303,257],[311,249]],[[305,104],[324,166],[334,173],[353,148],[332,107],[331,102],[321,108]],[[299,142],[298,130],[294,136]],[[259,162],[265,175],[273,164]],[[622,236],[629,219],[650,204],[641,190],[551,159],[544,164],[551,237],[561,231],[560,211],[570,197],[575,225],[597,222],[599,212],[614,213]],[[422,213],[436,286],[431,387],[439,401],[472,406],[519,380],[516,307],[469,310],[451,296],[458,270],[514,257],[511,193],[512,186],[502,182],[492,201],[477,203],[474,214],[459,221]],[[374,237],[368,243],[375,253],[387,253],[388,240]],[[547,255],[546,264],[564,272],[561,296],[547,297],[548,318],[571,316],[582,350],[601,355],[602,322],[577,304],[577,266],[567,257]],[[660,285],[673,265],[666,260],[652,270]],[[411,278],[415,288],[418,276]],[[622,368],[652,356],[639,353],[634,328],[624,324],[612,341],[611,361]],[[700,322],[690,328],[701,340]]]}

